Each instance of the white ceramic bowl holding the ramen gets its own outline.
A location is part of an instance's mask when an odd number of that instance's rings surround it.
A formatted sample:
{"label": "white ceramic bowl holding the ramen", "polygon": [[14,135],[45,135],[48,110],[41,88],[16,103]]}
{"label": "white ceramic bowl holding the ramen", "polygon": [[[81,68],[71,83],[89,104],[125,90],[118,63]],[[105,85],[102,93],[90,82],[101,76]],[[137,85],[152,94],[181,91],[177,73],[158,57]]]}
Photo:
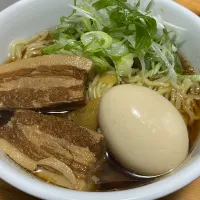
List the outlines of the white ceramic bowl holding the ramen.
{"label": "white ceramic bowl holding the ramen", "polygon": [[[13,39],[34,35],[59,23],[68,15],[73,0],[22,0],[0,13],[0,62],[8,54]],[[200,19],[170,0],[157,0],[155,10],[168,22],[181,26],[179,40],[186,40],[181,51],[200,69]],[[160,181],[137,189],[120,192],[88,193],[52,186],[29,176],[3,154],[0,154],[0,178],[14,187],[48,200],[151,200],[172,193],[200,176],[200,143],[185,164]]]}

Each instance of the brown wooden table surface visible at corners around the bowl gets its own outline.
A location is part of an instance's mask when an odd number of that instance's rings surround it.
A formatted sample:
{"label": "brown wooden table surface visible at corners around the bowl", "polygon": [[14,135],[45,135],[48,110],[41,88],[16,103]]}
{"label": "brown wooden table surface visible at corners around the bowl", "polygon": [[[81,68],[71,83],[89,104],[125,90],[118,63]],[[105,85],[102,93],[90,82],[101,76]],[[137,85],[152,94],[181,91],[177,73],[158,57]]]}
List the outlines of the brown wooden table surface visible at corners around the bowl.
{"label": "brown wooden table surface visible at corners around the bowl", "polygon": [[[0,0],[0,10],[17,0]],[[200,0],[177,0],[179,3],[200,14]],[[0,180],[0,200],[36,200]],[[160,200],[200,200],[200,178],[182,190]]]}

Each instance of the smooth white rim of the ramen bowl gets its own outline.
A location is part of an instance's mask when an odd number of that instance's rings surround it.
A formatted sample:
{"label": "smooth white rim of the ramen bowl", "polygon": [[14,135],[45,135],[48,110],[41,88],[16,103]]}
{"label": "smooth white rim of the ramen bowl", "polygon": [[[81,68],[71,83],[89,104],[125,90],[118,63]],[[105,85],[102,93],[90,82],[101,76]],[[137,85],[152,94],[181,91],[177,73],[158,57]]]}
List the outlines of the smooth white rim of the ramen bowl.
{"label": "smooth white rim of the ramen bowl", "polygon": [[[15,12],[18,8],[35,1],[37,0],[20,0],[1,11],[0,17],[9,15],[10,13]],[[164,1],[168,1],[171,6],[181,9],[191,18],[191,20],[198,23],[200,27],[200,19],[193,12],[172,0]],[[102,200],[107,198],[111,200],[149,200],[157,199],[173,193],[198,178],[200,176],[200,156],[193,159],[194,161],[191,162],[190,165],[185,166],[183,170],[180,170],[169,177],[143,187],[116,192],[80,192],[52,186],[38,181],[31,176],[17,173],[17,170],[15,169],[16,167],[8,165],[2,156],[0,156],[0,178],[21,191],[48,200]]]}

